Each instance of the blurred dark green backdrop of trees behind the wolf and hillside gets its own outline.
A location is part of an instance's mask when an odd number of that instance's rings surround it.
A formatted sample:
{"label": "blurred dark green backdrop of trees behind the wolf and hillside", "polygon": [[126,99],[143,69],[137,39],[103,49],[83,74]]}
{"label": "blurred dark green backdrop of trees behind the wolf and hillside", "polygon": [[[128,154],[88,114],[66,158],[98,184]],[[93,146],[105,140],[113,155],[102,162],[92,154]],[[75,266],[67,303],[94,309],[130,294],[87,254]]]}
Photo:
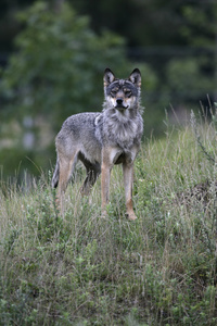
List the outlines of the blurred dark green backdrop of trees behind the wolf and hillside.
{"label": "blurred dark green backdrop of trees behind the wolf and hillside", "polygon": [[1,178],[52,170],[63,121],[101,111],[103,72],[142,73],[144,137],[217,97],[217,2],[1,0]]}

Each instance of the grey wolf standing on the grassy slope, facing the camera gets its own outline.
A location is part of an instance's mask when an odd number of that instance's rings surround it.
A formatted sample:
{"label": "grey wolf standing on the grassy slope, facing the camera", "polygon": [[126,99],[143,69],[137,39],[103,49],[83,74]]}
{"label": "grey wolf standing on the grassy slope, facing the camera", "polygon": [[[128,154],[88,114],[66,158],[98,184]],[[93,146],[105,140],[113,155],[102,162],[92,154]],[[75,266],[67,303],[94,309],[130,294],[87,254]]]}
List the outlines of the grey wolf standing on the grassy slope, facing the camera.
{"label": "grey wolf standing on the grassy slope, facing the camera", "polygon": [[69,116],[55,138],[56,165],[52,187],[63,211],[63,198],[76,162],[84,163],[87,176],[81,193],[88,195],[100,174],[102,214],[110,200],[110,178],[114,164],[123,165],[126,210],[129,220],[137,216],[132,206],[133,162],[143,134],[140,105],[141,74],[135,68],[127,79],[118,79],[110,68],[104,71],[102,112]]}

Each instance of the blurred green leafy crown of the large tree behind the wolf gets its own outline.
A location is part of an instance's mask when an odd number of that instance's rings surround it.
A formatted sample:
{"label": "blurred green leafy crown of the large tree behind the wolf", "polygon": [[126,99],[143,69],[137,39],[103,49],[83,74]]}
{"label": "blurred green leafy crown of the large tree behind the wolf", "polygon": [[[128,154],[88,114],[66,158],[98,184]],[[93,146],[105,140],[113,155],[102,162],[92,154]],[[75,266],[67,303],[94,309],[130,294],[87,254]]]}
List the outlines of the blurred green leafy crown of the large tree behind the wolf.
{"label": "blurred green leafy crown of the large tree behind the wolf", "polygon": [[26,27],[1,85],[10,104],[16,103],[17,116],[52,114],[51,122],[60,127],[72,113],[100,110],[102,72],[107,64],[123,70],[124,40],[108,32],[95,35],[88,18],[77,16],[67,3],[55,12],[36,2],[18,18]]}

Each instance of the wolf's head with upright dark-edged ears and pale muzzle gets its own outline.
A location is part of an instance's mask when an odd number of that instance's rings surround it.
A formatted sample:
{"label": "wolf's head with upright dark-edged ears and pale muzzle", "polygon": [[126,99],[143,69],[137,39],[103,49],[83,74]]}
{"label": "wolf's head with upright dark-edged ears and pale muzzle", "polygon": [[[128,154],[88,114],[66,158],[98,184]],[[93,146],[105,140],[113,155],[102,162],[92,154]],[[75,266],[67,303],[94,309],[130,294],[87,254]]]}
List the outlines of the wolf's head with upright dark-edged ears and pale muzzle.
{"label": "wolf's head with upright dark-edged ears and pale muzzle", "polygon": [[128,79],[115,78],[113,72],[106,68],[104,72],[105,108],[125,111],[138,109],[140,102],[141,74],[133,70]]}

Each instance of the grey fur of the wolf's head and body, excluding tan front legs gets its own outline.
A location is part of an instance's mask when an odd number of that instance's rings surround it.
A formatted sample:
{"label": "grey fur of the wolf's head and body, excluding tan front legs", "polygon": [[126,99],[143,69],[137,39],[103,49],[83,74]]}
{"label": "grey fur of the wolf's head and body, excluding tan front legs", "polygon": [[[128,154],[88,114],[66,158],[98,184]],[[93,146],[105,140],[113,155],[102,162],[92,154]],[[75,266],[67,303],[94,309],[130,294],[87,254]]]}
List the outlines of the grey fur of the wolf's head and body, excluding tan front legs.
{"label": "grey fur of the wolf's head and body, excluding tan front legs", "polygon": [[113,164],[124,164],[123,158],[133,162],[143,133],[140,86],[139,70],[135,70],[128,79],[116,79],[110,70],[105,70],[103,111],[69,116],[55,138],[58,159],[53,188],[59,184],[60,165],[71,162],[72,175],[80,160],[87,170],[82,189],[88,192],[101,173],[102,149],[115,149]]}

